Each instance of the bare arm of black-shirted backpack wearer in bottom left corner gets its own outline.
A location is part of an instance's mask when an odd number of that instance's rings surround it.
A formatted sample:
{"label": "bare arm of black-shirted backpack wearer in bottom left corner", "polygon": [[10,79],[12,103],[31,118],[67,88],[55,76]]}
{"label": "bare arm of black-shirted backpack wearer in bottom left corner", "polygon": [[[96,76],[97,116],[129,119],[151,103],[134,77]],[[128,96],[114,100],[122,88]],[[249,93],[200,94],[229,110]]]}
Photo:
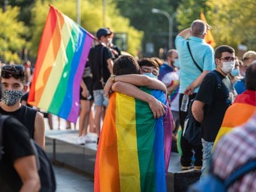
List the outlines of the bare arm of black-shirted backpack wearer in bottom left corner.
{"label": "bare arm of black-shirted backpack wearer in bottom left corner", "polygon": [[38,176],[35,156],[20,157],[14,161],[14,168],[22,180],[21,192],[33,192],[40,190],[40,178]]}

